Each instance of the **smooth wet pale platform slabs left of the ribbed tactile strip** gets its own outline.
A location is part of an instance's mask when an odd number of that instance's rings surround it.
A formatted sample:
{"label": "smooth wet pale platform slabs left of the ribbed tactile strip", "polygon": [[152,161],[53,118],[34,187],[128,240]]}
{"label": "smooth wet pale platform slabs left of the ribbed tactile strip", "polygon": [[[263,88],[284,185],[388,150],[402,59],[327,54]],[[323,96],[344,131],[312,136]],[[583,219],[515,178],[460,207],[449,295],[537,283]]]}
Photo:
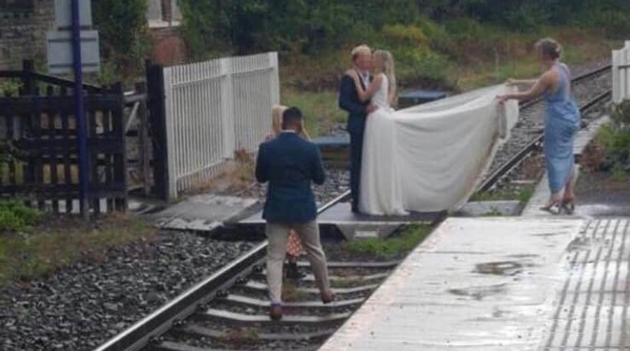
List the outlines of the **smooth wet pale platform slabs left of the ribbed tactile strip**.
{"label": "smooth wet pale platform slabs left of the ribbed tactile strip", "polygon": [[320,350],[539,350],[585,227],[580,218],[449,218]]}

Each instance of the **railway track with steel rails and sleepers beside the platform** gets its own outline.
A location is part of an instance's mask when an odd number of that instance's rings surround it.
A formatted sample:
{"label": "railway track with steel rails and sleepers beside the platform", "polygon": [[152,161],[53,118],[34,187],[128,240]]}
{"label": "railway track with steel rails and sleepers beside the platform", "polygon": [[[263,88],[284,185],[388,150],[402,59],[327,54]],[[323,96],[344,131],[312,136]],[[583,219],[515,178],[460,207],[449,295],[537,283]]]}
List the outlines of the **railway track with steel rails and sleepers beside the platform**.
{"label": "railway track with steel rails and sleepers beside the platform", "polygon": [[[581,105],[586,111],[610,96],[610,91],[589,88],[593,79],[609,74],[610,66],[581,75],[574,84],[584,86]],[[584,98],[586,97],[586,99]],[[504,145],[501,161],[480,186],[491,189],[514,171],[542,141],[540,118],[543,102],[522,104],[522,121],[512,145]],[[349,192],[319,208],[322,213],[345,201]],[[397,266],[392,262],[330,262],[330,277],[338,300],[323,305],[309,274],[289,282],[285,291],[285,317],[271,322],[267,317],[262,242],[241,258],[198,283],[181,296],[129,327],[96,351],[214,351],[214,350],[316,350],[331,333],[383,282]],[[305,264],[301,264],[307,267]],[[303,268],[304,269],[304,268]]]}

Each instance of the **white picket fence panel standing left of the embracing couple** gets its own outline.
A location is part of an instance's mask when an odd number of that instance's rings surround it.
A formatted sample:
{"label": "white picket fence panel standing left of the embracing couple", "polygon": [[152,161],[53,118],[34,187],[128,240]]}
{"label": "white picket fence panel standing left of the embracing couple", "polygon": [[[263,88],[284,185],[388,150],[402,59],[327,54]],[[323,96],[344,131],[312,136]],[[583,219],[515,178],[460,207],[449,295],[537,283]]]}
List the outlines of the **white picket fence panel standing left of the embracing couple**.
{"label": "white picket fence panel standing left of the embracing couple", "polygon": [[255,152],[280,101],[277,53],[164,69],[169,198]]}

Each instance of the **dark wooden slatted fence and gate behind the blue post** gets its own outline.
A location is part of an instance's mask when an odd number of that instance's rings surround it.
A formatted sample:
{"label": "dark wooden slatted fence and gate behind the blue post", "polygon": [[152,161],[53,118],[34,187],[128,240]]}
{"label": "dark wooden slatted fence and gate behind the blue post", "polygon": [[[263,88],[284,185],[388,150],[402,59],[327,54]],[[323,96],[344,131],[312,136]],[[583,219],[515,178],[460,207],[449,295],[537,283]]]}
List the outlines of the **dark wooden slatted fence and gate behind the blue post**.
{"label": "dark wooden slatted fence and gate behind the blue post", "polygon": [[[0,72],[19,93],[0,97],[0,196],[20,197],[59,213],[79,209],[77,118],[72,81],[33,72]],[[84,85],[89,155],[89,201],[95,213],[127,208],[128,158],[125,118],[129,105],[146,99],[111,88]],[[134,107],[131,107],[132,109]],[[137,113],[137,112],[136,112]],[[143,135],[143,133],[139,133]],[[144,165],[143,165],[144,166]]]}

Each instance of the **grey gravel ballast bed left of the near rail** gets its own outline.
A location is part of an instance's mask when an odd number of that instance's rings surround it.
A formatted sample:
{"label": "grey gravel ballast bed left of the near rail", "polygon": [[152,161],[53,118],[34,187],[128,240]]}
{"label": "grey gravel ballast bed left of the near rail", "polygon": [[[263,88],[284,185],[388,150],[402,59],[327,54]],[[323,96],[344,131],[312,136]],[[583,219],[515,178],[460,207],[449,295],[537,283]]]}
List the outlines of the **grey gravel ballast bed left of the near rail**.
{"label": "grey gravel ballast bed left of the near rail", "polygon": [[184,232],[84,258],[51,277],[0,289],[0,349],[94,350],[250,250]]}

